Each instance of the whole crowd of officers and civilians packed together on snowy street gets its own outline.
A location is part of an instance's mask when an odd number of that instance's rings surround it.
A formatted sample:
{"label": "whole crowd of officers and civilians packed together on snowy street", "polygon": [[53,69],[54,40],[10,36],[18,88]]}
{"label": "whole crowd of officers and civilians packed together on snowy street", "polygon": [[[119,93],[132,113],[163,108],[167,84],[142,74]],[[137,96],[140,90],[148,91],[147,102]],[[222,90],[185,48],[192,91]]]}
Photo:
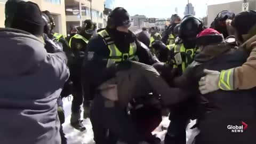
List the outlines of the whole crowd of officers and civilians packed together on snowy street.
{"label": "whole crowd of officers and civilians packed together on snowy street", "polygon": [[[35,3],[9,0],[5,16],[3,143],[68,143],[62,98],[70,95],[71,126],[84,131],[82,119],[90,118],[96,144],[161,143],[151,132],[166,109],[165,144],[186,143],[190,119],[200,131],[195,144],[256,142],[255,11],[221,11],[211,28],[193,15],[174,14],[162,36],[155,28],[134,35],[129,13],[117,7],[106,28],[97,31],[85,20],[67,38]],[[227,129],[242,123],[243,133]]]}

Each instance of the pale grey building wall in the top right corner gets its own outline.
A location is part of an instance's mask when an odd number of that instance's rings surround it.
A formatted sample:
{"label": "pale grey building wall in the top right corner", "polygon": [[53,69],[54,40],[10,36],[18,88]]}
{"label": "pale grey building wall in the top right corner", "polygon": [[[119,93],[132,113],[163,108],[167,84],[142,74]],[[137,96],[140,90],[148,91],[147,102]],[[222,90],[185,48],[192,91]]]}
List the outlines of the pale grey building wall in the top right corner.
{"label": "pale grey building wall in the top right corner", "polygon": [[[251,0],[247,1],[249,3],[249,10],[256,10],[256,1]],[[223,3],[223,4],[215,4],[208,5],[207,7],[207,26],[210,27],[213,20],[217,17],[217,14],[223,10],[228,10],[234,12],[235,14],[243,11],[243,3],[244,1],[237,1],[231,3]]]}

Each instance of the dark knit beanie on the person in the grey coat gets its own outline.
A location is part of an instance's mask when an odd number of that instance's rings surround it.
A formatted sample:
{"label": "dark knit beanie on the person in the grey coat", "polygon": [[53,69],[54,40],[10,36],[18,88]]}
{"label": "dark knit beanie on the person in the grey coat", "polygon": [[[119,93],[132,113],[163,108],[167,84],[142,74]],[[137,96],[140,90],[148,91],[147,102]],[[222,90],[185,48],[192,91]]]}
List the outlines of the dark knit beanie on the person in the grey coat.
{"label": "dark knit beanie on the person in the grey coat", "polygon": [[33,2],[19,2],[17,4],[11,28],[25,30],[33,35],[42,36],[44,25],[41,10],[37,4]]}

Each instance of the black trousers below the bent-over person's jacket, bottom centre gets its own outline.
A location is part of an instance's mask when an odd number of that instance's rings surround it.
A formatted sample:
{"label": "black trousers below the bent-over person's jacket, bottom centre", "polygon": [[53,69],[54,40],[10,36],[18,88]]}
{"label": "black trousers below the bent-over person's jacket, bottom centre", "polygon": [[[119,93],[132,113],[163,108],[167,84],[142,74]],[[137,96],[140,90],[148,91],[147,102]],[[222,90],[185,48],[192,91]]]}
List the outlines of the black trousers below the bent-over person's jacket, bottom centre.
{"label": "black trousers below the bent-over person's jacket, bottom centre", "polygon": [[100,94],[96,94],[92,102],[90,119],[95,144],[115,144],[118,140],[128,144],[139,143],[139,134],[125,108]]}

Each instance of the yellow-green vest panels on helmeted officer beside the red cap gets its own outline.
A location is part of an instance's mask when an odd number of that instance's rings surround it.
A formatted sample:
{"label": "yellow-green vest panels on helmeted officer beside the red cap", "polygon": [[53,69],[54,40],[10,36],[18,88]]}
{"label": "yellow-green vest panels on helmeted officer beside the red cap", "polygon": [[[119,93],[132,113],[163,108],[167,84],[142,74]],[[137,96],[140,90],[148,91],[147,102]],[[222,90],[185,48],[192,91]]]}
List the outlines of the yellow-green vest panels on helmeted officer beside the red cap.
{"label": "yellow-green vest panels on helmeted officer beside the red cap", "polygon": [[[192,62],[192,61],[188,62],[188,59],[193,60],[195,51],[196,51],[195,49],[186,49],[183,44],[177,44],[174,46],[174,55],[176,55],[178,53],[188,54],[188,52],[191,52],[190,58],[188,58],[186,55],[186,60],[181,59],[182,60],[182,63],[181,63],[182,72],[184,72],[186,70],[186,68],[188,67],[188,65],[190,64],[190,62]],[[173,68],[178,68],[176,61],[173,65]]]}

